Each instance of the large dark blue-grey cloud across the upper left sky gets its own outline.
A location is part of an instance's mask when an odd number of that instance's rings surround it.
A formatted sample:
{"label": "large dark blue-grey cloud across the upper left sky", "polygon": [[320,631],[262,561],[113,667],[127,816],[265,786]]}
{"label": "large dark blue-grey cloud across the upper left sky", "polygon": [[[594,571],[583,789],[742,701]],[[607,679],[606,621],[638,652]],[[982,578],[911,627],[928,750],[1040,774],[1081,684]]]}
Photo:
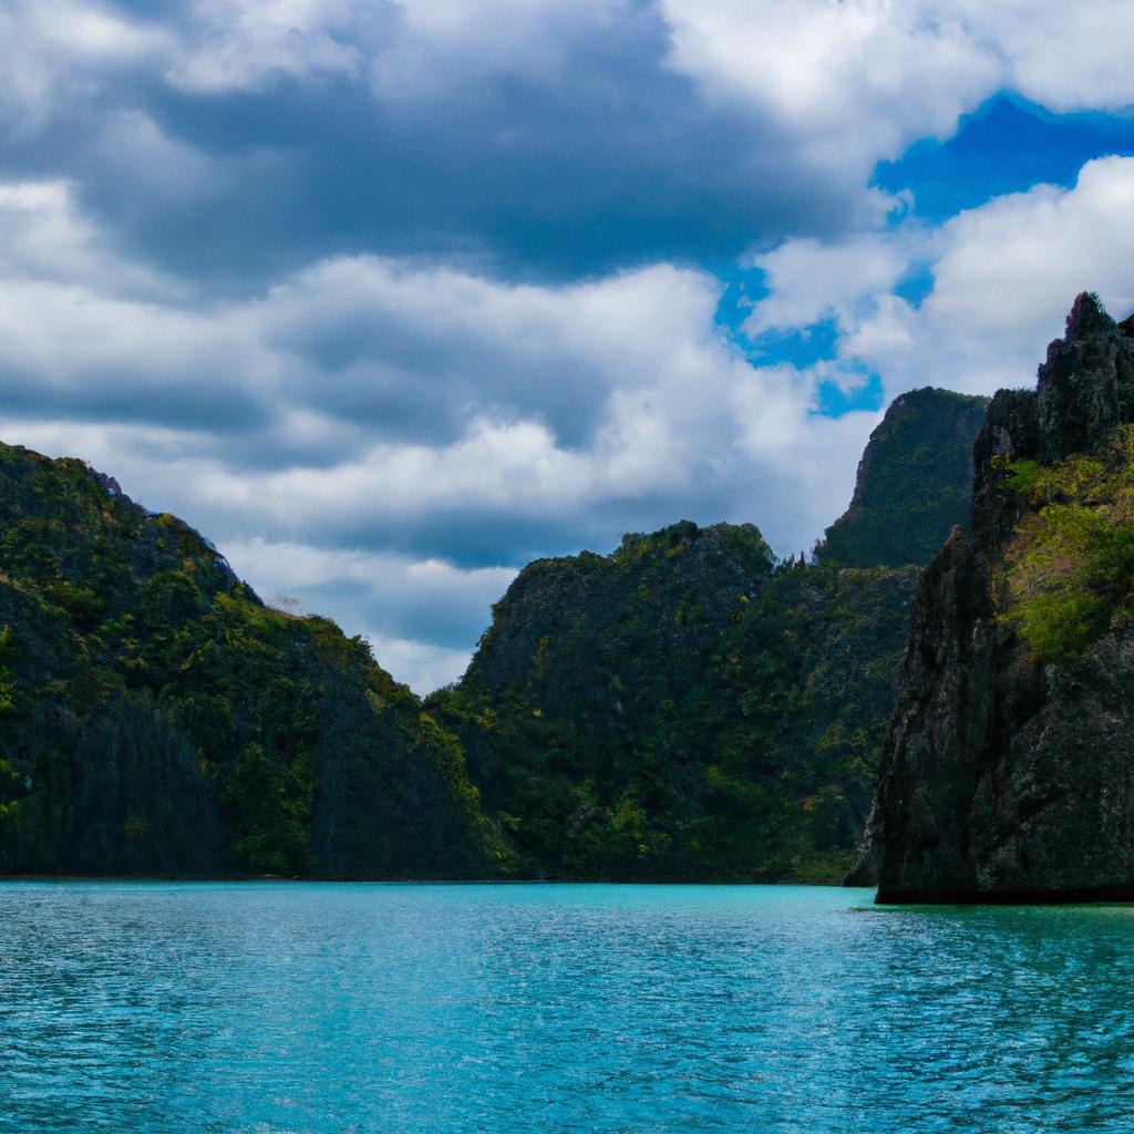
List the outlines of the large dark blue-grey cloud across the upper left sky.
{"label": "large dark blue-grey cloud across the upper left sky", "polygon": [[581,278],[877,212],[700,100],[649,5],[136,7],[99,58],[7,16],[0,177],[69,180],[136,259],[229,294],[361,252]]}

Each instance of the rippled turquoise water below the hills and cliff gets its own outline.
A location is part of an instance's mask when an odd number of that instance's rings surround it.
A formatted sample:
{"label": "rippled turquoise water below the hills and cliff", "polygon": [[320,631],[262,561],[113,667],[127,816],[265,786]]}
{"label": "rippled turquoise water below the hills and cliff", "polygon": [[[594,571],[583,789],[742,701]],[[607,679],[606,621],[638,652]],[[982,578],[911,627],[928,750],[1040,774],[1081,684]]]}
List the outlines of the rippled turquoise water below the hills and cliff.
{"label": "rippled turquoise water below the hills and cliff", "polygon": [[0,885],[0,1129],[1134,1131],[1134,909]]}

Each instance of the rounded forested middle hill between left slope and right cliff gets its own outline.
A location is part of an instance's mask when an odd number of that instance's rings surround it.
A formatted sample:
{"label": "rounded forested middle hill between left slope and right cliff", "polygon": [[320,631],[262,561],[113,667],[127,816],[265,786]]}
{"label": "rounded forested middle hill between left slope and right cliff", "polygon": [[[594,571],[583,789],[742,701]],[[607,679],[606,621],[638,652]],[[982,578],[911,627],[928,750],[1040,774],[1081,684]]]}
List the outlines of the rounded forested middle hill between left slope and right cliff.
{"label": "rounded forested middle hill between left slope and right cliff", "polygon": [[751,525],[687,522],[542,560],[431,710],[524,875],[831,881],[915,574],[777,565]]}

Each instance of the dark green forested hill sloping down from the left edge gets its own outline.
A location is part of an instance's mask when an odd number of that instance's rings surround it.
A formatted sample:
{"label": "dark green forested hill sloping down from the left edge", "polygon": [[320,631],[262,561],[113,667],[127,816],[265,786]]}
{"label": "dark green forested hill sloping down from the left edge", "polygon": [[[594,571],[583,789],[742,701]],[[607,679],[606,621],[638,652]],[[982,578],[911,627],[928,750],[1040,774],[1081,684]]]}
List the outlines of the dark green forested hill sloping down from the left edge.
{"label": "dark green forested hill sloping down from the left edge", "polygon": [[0,446],[0,870],[475,877],[459,748],[78,460]]}

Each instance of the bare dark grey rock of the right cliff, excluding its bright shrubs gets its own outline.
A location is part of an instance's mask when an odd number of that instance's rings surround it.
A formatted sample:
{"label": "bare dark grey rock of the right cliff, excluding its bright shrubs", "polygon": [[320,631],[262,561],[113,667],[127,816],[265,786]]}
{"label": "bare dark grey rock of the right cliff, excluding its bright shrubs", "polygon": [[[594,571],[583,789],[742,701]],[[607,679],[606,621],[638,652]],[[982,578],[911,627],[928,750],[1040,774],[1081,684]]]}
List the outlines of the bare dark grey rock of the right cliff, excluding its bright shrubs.
{"label": "bare dark grey rock of the right cliff, excluding its bright shrubs", "polygon": [[1043,464],[1134,421],[1134,340],[1081,295],[1034,391],[1000,391],[974,447],[973,524],[926,568],[860,861],[878,900],[1134,898],[1134,631],[1041,665],[996,618],[1023,503],[1002,462]]}

